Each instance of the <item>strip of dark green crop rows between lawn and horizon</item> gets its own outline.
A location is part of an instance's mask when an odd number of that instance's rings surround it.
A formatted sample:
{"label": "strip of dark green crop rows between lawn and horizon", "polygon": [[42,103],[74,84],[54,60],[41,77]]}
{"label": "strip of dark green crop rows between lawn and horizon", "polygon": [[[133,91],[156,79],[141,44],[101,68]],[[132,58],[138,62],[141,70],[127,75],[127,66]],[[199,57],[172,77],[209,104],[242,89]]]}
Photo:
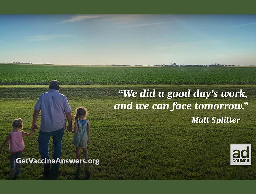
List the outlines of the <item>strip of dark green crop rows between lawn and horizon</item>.
{"label": "strip of dark green crop rows between lawn and horizon", "polygon": [[115,67],[0,64],[0,85],[256,84],[255,67]]}

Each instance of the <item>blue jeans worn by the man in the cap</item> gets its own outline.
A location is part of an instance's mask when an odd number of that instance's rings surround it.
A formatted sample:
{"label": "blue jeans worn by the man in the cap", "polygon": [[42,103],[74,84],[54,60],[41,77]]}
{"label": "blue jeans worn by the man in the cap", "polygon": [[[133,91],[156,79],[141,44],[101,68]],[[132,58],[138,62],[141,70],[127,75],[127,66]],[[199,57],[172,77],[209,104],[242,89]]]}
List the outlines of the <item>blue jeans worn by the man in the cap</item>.
{"label": "blue jeans worn by the man in the cap", "polygon": [[[57,131],[42,132],[39,131],[38,143],[39,153],[42,159],[49,159],[49,143],[50,137],[53,137],[53,159],[56,161],[61,156],[61,140],[64,135],[65,127]],[[59,163],[53,164],[53,166],[59,166]]]}

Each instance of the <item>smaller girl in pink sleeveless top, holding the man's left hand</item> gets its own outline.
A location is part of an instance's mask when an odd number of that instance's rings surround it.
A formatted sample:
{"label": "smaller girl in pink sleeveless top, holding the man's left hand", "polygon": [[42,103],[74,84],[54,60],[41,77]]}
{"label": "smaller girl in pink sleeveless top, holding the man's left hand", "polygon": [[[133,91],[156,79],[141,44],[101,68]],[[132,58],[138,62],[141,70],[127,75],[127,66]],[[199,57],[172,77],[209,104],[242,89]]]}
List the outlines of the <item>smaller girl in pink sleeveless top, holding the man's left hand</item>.
{"label": "smaller girl in pink sleeveless top, holding the man's left hand", "polygon": [[30,136],[32,133],[35,132],[35,129],[33,129],[30,133],[25,133],[23,131],[23,121],[21,118],[15,119],[12,122],[12,132],[10,132],[5,139],[2,147],[1,147],[1,153],[4,149],[4,146],[10,141],[9,143],[9,151],[11,153],[10,156],[10,164],[11,164],[11,171],[9,173],[9,176],[13,176],[14,178],[17,178],[19,175],[19,169],[20,169],[20,164],[16,164],[16,171],[15,171],[15,158],[21,158],[23,148],[24,148],[24,141],[22,136]]}

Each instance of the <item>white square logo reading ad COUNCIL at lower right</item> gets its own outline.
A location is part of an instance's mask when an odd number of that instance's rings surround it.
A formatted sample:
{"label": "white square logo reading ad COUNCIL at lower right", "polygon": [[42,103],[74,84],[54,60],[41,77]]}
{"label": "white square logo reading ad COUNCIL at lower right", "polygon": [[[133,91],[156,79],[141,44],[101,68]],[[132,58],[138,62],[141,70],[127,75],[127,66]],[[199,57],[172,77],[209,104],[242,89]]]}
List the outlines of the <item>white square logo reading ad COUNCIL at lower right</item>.
{"label": "white square logo reading ad COUNCIL at lower right", "polygon": [[231,144],[230,165],[251,165],[251,144]]}

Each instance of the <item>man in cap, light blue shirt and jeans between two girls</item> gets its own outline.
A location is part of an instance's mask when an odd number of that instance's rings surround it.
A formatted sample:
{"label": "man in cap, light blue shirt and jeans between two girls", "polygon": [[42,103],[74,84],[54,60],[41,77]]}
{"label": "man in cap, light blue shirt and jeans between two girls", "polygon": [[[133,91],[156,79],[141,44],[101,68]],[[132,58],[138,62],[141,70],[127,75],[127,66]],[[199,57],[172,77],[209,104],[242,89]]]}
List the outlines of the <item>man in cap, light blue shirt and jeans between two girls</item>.
{"label": "man in cap, light blue shirt and jeans between two girls", "polygon": [[[71,107],[67,97],[59,93],[59,82],[52,80],[49,85],[49,92],[41,94],[35,104],[31,130],[37,128],[37,118],[40,110],[41,125],[38,135],[39,152],[42,159],[49,159],[49,141],[53,137],[53,159],[57,160],[61,156],[61,140],[65,131],[66,118],[68,129],[72,130]],[[59,163],[53,164],[52,169],[58,169]],[[45,176],[50,174],[50,164],[44,164]]]}

